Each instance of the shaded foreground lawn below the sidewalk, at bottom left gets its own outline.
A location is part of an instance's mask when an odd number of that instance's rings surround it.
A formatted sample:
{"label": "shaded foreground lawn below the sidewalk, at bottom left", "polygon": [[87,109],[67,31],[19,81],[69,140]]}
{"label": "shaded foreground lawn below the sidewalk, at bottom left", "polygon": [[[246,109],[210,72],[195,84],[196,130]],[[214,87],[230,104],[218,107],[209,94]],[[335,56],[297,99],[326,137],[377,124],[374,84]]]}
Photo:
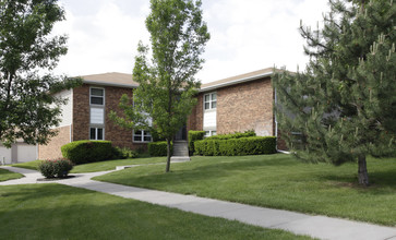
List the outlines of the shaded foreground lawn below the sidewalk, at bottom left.
{"label": "shaded foreground lawn below the sidewalk, at bottom left", "polygon": [[310,239],[56,183],[0,197],[0,239]]}

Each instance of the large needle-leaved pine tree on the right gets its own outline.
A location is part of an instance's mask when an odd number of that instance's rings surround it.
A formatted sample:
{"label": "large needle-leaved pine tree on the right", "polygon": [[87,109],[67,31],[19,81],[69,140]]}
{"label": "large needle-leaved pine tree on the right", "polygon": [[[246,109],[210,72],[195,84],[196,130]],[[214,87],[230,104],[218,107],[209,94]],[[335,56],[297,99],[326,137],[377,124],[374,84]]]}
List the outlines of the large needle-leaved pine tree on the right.
{"label": "large needle-leaved pine tree on the right", "polygon": [[[384,0],[334,0],[323,29],[300,27],[305,71],[274,75],[279,128],[293,154],[310,161],[358,161],[395,155],[396,5]],[[295,133],[295,134],[292,134]]]}

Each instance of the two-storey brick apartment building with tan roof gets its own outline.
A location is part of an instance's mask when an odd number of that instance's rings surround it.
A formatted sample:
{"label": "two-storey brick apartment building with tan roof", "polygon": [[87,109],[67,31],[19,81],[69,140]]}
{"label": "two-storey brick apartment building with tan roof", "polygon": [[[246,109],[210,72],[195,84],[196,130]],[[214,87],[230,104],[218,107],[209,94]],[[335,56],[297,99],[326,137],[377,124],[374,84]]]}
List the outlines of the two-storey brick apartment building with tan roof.
{"label": "two-storey brick apartment building with tan roof", "polygon": [[[273,69],[264,69],[225,80],[202,84],[185,125],[177,133],[173,152],[188,153],[188,131],[204,131],[205,136],[254,131],[257,136],[279,134],[273,111],[275,91],[271,76]],[[123,94],[133,96],[137,83],[131,74],[104,73],[81,76],[83,85],[59,94],[67,98],[62,106],[62,122],[56,128],[59,134],[47,145],[38,146],[38,158],[61,157],[61,146],[79,140],[106,140],[113,146],[131,149],[146,148],[152,135],[142,130],[124,130],[109,119],[110,110],[118,111]],[[283,142],[277,147],[284,149]]]}

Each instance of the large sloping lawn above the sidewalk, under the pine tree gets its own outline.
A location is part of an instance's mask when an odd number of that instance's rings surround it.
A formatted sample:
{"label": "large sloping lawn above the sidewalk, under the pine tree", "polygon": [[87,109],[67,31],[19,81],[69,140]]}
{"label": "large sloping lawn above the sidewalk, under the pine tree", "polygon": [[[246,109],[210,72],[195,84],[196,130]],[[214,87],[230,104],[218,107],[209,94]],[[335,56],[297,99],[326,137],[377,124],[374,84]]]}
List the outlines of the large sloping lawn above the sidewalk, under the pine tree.
{"label": "large sloping lawn above the sidewalk, under the pine tree", "polygon": [[357,184],[356,164],[304,164],[290,155],[193,157],[94,179],[250,205],[396,226],[396,158],[368,158],[372,185]]}

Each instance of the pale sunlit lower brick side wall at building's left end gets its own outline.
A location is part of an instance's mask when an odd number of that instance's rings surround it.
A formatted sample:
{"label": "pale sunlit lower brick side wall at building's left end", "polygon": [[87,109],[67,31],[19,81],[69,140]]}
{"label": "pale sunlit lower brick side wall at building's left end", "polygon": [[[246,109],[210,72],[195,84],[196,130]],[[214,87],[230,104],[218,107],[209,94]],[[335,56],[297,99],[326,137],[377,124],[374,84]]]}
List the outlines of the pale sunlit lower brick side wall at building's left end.
{"label": "pale sunlit lower brick side wall at building's left end", "polygon": [[53,136],[47,145],[38,145],[38,159],[53,159],[62,157],[61,146],[70,143],[70,125],[56,129],[58,135]]}

